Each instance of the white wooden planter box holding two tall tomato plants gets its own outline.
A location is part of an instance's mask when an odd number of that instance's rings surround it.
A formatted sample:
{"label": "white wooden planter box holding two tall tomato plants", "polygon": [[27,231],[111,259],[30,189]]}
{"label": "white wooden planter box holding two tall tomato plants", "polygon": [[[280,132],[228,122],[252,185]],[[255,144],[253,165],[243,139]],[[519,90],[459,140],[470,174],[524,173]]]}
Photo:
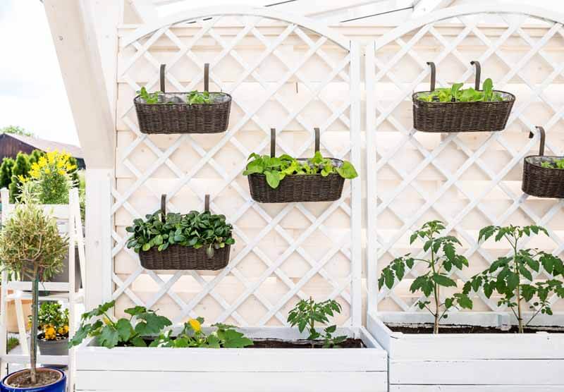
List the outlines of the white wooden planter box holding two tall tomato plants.
{"label": "white wooden planter box holding two tall tomato plants", "polygon": [[388,352],[390,392],[564,391],[564,333],[411,335],[381,319],[367,329]]}

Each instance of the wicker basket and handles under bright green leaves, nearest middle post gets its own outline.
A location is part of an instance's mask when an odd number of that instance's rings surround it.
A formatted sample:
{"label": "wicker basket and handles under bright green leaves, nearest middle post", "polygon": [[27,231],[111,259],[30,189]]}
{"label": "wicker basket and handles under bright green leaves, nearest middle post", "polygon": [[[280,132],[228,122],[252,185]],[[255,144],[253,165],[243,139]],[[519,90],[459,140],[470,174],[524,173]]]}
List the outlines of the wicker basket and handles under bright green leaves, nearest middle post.
{"label": "wicker basket and handles under bright green leaves, nearest middle post", "polygon": [[[315,152],[319,151],[319,128],[315,128]],[[270,156],[276,156],[276,130],[271,129]],[[331,159],[333,165],[341,166],[343,161]],[[307,159],[298,159],[307,161]],[[271,188],[264,174],[253,173],[248,176],[252,200],[259,203],[291,202],[333,202],[341,198],[345,179],[337,173],[323,177],[321,174],[300,174],[286,176],[278,188]]]}

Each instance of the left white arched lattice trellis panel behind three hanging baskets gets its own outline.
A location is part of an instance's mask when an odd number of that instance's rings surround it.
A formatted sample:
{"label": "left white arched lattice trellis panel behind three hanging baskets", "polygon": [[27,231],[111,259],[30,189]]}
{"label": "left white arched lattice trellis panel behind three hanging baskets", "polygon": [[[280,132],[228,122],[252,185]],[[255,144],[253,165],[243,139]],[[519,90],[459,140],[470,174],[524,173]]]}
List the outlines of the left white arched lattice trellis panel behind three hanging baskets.
{"label": "left white arched lattice trellis panel behind three hanging baskets", "polygon": [[[360,325],[360,179],[338,202],[257,204],[242,171],[251,152],[266,151],[278,129],[278,153],[312,154],[313,128],[321,150],[360,166],[360,56],[356,44],[308,20],[266,9],[214,8],[140,27],[121,39],[112,297],[159,308],[174,321],[200,315],[241,326],[283,325],[298,298],[336,298],[341,324]],[[167,64],[168,91],[210,90],[233,96],[221,135],[139,132],[133,96],[157,88]],[[217,274],[148,271],[125,247],[125,226],[154,212],[159,195],[170,211],[211,209],[233,223],[237,243]]]}

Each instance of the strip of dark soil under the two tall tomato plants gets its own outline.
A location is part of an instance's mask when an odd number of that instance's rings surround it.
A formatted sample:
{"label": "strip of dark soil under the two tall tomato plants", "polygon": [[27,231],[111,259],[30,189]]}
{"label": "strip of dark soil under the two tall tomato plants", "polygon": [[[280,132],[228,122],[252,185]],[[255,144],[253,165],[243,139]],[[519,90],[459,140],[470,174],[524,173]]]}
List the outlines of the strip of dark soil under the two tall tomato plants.
{"label": "strip of dark soil under the two tall tomato plants", "polygon": [[[389,329],[394,332],[401,333],[433,333],[433,326],[431,324],[414,324],[414,325],[388,325]],[[439,326],[439,334],[441,333],[518,333],[517,326],[512,326],[510,329],[501,329],[494,326],[472,326],[472,325],[441,325]],[[545,327],[530,327],[525,328],[525,333],[536,332],[551,332],[551,333],[564,333],[564,328],[561,326],[545,326]]]}

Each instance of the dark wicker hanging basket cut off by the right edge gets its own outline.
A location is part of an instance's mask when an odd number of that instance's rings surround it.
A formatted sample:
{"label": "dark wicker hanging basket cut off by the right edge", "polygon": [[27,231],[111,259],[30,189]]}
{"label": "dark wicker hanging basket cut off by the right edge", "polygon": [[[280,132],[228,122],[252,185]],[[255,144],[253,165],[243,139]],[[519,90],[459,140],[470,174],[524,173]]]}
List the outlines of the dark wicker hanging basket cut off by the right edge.
{"label": "dark wicker hanging basket cut off by the right edge", "polygon": [[[555,161],[556,159],[563,159],[563,157],[546,157],[544,155],[546,134],[544,128],[537,127],[537,129],[541,135],[539,155],[525,157],[521,189],[527,195],[564,199],[564,169],[551,169],[541,166],[542,162]],[[532,133],[529,134],[529,137],[533,136]]]}

